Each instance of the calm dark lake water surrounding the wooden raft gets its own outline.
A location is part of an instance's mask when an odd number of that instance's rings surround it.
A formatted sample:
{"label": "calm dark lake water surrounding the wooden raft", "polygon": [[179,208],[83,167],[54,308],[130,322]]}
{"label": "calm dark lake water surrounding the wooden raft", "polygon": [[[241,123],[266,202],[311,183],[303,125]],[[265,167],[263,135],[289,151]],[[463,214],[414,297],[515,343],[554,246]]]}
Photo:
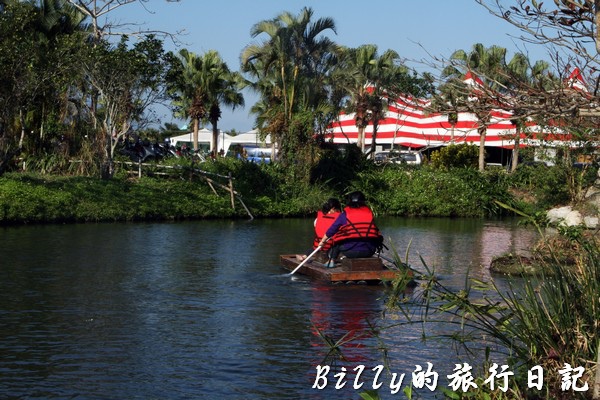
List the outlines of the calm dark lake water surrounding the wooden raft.
{"label": "calm dark lake water surrounding the wooden raft", "polygon": [[[516,220],[378,222],[389,247],[404,254],[410,243],[410,264],[422,269],[423,257],[451,287],[467,270],[503,284],[491,258],[537,238]],[[447,385],[459,362],[447,344],[423,343],[420,327],[383,329],[382,343],[369,334],[402,320],[383,313],[382,286],[326,285],[279,266],[311,232],[309,219],[0,228],[0,398],[360,398],[352,375],[341,390],[333,373],[312,388],[327,355],[319,330],[355,336],[338,371],[381,365],[384,344],[405,385],[426,362]],[[370,388],[368,371],[363,380]],[[381,381],[383,398],[405,398]]]}

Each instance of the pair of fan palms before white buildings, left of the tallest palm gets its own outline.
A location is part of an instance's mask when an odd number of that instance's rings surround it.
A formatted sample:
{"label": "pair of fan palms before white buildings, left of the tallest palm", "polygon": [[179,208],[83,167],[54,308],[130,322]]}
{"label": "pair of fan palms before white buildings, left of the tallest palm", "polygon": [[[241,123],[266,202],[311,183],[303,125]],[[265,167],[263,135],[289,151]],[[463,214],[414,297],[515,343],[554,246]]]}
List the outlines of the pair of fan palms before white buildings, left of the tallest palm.
{"label": "pair of fan palms before white buildings, left of the tallest palm", "polygon": [[221,104],[234,109],[244,105],[244,98],[238,90],[240,76],[231,72],[219,53],[214,50],[198,56],[182,49],[179,52],[179,60],[181,70],[171,88],[175,113],[191,118],[195,151],[198,150],[200,123],[208,120],[213,127],[211,149],[216,154],[219,136],[217,123],[221,118]]}

